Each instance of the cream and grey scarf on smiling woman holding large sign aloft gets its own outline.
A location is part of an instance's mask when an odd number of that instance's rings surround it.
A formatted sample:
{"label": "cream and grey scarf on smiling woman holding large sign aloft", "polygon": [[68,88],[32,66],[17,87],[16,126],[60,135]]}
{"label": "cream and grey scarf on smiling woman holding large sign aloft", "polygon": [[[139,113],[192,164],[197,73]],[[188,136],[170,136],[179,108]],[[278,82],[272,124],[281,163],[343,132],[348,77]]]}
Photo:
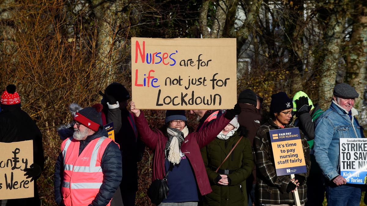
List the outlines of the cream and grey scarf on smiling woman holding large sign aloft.
{"label": "cream and grey scarf on smiling woman holding large sign aloft", "polygon": [[[185,126],[182,131],[175,128],[167,128],[168,140],[166,143],[165,154],[169,162],[173,165],[181,161],[181,144],[189,134],[189,129]],[[167,155],[168,151],[168,155]],[[167,157],[168,156],[168,157]]]}

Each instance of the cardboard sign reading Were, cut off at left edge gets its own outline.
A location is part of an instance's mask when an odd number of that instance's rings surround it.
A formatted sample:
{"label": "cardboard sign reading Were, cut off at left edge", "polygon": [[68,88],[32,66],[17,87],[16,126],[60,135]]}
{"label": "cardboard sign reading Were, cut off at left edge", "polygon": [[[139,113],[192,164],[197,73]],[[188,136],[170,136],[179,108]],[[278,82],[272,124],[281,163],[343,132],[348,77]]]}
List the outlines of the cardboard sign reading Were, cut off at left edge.
{"label": "cardboard sign reading Were, cut off at left edge", "polygon": [[34,196],[33,183],[24,176],[33,163],[33,140],[0,143],[0,199]]}

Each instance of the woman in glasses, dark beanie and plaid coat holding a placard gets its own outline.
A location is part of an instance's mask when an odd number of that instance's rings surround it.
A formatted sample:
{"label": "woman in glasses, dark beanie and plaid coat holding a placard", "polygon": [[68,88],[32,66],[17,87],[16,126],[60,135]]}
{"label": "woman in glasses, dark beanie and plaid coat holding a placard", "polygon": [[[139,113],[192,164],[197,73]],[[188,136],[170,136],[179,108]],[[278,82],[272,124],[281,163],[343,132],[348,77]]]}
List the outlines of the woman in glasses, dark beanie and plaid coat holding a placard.
{"label": "woman in glasses, dark beanie and plaid coat holding a placard", "polygon": [[277,176],[270,142],[269,130],[293,128],[291,118],[293,104],[284,92],[272,95],[270,114],[272,118],[257,130],[254,139],[254,152],[256,164],[257,189],[256,198],[260,205],[294,205],[292,192],[298,190],[301,205],[307,201],[306,177],[310,169],[310,148],[301,131],[301,140],[304,150],[307,173]]}

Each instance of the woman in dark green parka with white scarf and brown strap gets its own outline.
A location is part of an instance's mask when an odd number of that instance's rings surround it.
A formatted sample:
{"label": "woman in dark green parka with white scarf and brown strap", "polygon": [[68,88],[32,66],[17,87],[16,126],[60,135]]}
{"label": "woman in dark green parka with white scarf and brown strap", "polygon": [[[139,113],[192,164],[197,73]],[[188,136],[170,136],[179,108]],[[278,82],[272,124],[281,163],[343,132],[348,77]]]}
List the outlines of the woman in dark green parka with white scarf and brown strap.
{"label": "woman in dark green parka with white scarf and brown strap", "polygon": [[[239,126],[236,115],[217,138],[201,149],[212,189],[210,194],[203,197],[204,205],[247,205],[246,179],[254,169],[255,163],[250,140],[243,132],[246,129],[239,129]],[[224,161],[233,147],[235,149]],[[219,166],[218,172],[215,172]]]}

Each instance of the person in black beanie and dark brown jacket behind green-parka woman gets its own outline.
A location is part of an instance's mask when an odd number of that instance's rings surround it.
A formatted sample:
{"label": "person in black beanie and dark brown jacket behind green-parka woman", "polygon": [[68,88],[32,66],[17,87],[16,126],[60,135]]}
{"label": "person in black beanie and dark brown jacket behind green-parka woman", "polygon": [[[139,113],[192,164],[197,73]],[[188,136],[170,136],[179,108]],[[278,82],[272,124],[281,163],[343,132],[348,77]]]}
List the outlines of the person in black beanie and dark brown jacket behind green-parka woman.
{"label": "person in black beanie and dark brown jacket behind green-parka woman", "polygon": [[[245,127],[248,130],[248,139],[252,146],[255,134],[261,126],[261,114],[257,108],[258,98],[251,89],[245,89],[238,96],[237,102],[241,107],[241,113],[238,115],[238,123],[241,127]],[[252,171],[252,175],[246,181],[248,206],[252,206],[254,203],[256,204],[255,185],[256,169]]]}

